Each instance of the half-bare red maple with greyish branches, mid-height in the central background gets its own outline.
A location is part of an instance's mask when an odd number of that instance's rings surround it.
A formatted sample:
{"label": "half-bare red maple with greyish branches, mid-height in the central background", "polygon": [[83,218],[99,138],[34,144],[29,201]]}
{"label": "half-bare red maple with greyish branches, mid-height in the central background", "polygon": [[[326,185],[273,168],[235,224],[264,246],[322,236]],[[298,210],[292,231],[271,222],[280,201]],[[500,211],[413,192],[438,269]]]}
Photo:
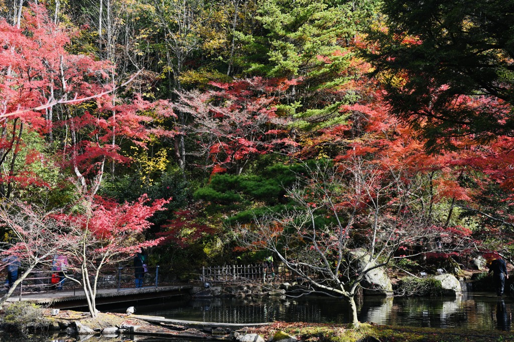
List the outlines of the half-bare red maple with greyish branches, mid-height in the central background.
{"label": "half-bare red maple with greyish branches, mid-height in the central background", "polygon": [[277,110],[278,100],[294,84],[254,77],[213,83],[217,90],[179,93],[175,109],[191,117],[183,134],[195,134],[212,173],[241,174],[255,156],[296,146],[288,120]]}

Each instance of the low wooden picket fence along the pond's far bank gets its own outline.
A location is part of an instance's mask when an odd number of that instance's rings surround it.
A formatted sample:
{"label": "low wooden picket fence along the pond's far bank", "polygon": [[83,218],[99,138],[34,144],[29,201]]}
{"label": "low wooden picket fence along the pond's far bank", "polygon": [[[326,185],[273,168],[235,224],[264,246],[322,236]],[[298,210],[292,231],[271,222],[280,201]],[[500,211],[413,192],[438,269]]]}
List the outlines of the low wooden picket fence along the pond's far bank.
{"label": "low wooden picket fence along the pond's far bank", "polygon": [[[308,268],[302,268],[302,272],[315,277],[314,272]],[[204,283],[245,283],[252,281],[302,281],[295,272],[284,266],[274,266],[273,270],[267,270],[262,264],[250,265],[224,265],[204,266],[201,269],[199,280]]]}

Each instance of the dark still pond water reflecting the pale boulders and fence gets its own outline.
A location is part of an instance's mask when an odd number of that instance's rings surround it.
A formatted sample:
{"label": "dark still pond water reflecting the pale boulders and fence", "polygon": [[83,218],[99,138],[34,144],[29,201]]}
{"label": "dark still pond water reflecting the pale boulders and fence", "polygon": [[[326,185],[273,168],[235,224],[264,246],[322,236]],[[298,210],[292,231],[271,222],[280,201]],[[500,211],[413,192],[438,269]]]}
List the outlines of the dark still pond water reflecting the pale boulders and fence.
{"label": "dark still pond water reflecting the pale boulders and fence", "polygon": [[[331,297],[192,299],[158,306],[136,306],[138,314],[221,323],[274,320],[348,323],[347,304]],[[380,325],[511,330],[514,300],[492,293],[448,297],[366,297],[358,302],[359,320]]]}

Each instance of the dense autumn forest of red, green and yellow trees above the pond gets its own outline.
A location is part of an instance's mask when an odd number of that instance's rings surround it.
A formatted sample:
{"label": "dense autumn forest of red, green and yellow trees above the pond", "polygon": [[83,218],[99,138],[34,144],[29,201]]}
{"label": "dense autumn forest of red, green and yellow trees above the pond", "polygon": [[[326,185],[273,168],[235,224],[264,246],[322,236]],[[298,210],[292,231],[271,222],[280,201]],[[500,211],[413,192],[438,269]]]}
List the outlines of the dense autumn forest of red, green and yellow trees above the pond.
{"label": "dense autumn forest of red, green and yellow trees above the pond", "polygon": [[514,258],[510,0],[2,0],[0,42],[3,254],[26,269],[273,255],[352,299],[355,253]]}

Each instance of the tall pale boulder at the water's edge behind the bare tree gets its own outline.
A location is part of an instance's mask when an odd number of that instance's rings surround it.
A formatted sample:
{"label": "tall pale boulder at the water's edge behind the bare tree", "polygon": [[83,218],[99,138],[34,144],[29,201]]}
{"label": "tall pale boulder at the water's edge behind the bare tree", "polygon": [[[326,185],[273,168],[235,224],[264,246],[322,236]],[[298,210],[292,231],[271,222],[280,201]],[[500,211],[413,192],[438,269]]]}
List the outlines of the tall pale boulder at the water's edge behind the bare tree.
{"label": "tall pale boulder at the water's edge behind the bare tree", "polygon": [[[355,266],[358,270],[371,269],[376,266],[376,263],[370,260],[370,255],[364,250],[355,250],[351,253],[352,259],[355,261]],[[363,293],[368,295],[393,295],[393,284],[383,267],[377,267],[364,275],[362,281]]]}

